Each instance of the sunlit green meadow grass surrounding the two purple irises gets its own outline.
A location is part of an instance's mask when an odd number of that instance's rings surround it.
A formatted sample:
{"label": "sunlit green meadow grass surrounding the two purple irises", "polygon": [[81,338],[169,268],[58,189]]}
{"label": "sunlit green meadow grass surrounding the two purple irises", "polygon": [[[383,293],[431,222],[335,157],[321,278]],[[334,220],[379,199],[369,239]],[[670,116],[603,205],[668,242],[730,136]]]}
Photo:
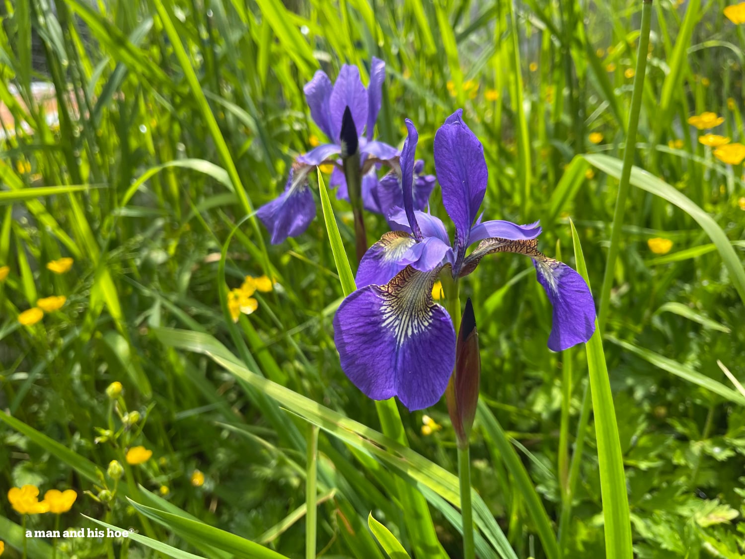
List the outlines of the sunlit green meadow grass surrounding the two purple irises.
{"label": "sunlit green meadow grass surrounding the two purple irises", "polygon": [[[700,141],[743,141],[745,27],[726,6],[4,2],[5,555],[461,558],[465,531],[480,558],[743,556],[743,168]],[[373,56],[378,138],[400,148],[412,119],[434,172],[463,107],[485,215],[540,219],[541,250],[598,305],[589,343],[553,353],[527,259],[459,282],[481,344],[473,526],[445,402],[372,402],[340,368],[349,204],[320,168],[307,232],[273,245],[255,215],[323,136],[302,87],[343,63],[367,83]],[[723,120],[689,124],[705,112]],[[369,243],[387,231],[365,225]],[[230,290],[262,275],[234,323]],[[6,496],[25,484],[77,499],[19,514]],[[25,537],[57,525],[133,532]]]}

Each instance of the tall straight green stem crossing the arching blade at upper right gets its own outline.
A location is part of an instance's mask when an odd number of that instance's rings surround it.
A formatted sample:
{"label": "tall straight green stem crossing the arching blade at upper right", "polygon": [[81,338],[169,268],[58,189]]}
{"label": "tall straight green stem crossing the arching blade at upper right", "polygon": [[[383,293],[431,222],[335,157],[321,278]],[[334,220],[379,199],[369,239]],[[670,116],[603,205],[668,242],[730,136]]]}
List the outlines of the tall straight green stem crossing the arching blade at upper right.
{"label": "tall straight green stem crossing the arching blade at upper right", "polygon": [[652,21],[652,0],[643,0],[641,5],[641,31],[639,35],[639,47],[636,53],[636,70],[634,75],[634,89],[631,94],[631,112],[629,113],[628,134],[626,136],[626,148],[624,149],[624,166],[621,168],[621,181],[618,183],[618,198],[615,201],[615,212],[613,212],[613,224],[610,234],[610,249],[606,260],[605,276],[603,276],[603,288],[600,291],[600,316],[598,324],[600,332],[603,332],[608,318],[608,304],[610,301],[610,290],[615,275],[615,260],[618,258],[619,245],[621,244],[621,227],[624,224],[624,211],[626,209],[626,198],[629,195],[631,167],[634,161],[634,148],[636,144],[636,130],[641,110],[641,97],[644,92],[644,72],[647,69],[647,47],[650,42],[650,25]]}

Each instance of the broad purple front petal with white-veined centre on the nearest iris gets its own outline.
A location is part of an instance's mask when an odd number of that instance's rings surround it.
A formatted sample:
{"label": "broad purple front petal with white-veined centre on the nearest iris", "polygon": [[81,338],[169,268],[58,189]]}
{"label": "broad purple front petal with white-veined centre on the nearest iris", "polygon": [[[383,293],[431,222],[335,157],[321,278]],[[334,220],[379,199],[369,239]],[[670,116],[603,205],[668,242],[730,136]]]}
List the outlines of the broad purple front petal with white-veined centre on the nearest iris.
{"label": "broad purple front petal with white-veined centre on the nearest iris", "polygon": [[455,332],[432,302],[436,272],[405,268],[387,285],[367,285],[339,306],[334,341],[341,367],[367,397],[398,396],[411,411],[442,397],[455,362]]}

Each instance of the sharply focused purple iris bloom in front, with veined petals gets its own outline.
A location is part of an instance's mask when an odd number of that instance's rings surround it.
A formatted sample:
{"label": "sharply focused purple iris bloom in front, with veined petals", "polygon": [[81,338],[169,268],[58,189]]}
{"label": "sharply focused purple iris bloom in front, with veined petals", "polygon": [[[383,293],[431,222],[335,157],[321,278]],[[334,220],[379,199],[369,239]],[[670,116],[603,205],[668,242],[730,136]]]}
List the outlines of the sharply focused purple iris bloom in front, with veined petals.
{"label": "sharply focused purple iris bloom in front, with veined petals", "polygon": [[442,397],[455,362],[453,323],[432,300],[440,272],[466,276],[490,253],[530,256],[554,306],[548,347],[565,350],[589,340],[595,331],[595,304],[586,282],[537,250],[538,224],[476,219],[488,171],[484,147],[461,113],[448,117],[434,138],[435,171],[454,222],[454,242],[440,219],[413,209],[418,135],[407,120],[400,160],[404,209],[390,219],[399,230],[386,233],[367,251],[358,268],[358,290],[343,300],[334,318],[334,339],[346,376],[368,397],[398,396],[410,410],[434,405]]}

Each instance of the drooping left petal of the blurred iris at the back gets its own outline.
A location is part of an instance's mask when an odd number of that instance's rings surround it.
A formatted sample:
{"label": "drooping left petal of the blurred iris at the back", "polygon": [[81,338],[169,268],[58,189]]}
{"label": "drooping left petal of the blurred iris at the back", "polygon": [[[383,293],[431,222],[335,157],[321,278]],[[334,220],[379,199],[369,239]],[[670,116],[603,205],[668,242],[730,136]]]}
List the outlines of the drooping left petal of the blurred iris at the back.
{"label": "drooping left petal of the blurred iris at the back", "polygon": [[308,168],[292,168],[285,192],[256,211],[261,223],[271,234],[272,244],[304,233],[316,216],[316,204],[308,188],[307,174]]}

